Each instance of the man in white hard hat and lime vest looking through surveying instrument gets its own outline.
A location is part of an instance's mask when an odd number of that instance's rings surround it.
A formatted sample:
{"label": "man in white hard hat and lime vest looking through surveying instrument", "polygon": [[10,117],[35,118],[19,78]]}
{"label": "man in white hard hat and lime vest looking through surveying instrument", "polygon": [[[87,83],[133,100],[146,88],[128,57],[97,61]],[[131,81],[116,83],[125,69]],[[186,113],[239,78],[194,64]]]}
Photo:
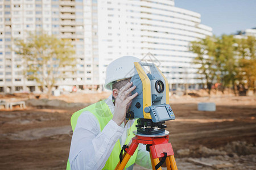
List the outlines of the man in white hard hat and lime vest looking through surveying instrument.
{"label": "man in white hard hat and lime vest looking through surveying instrument", "polygon": [[[112,90],[112,95],[73,114],[67,169],[114,169],[119,162],[122,146],[129,145],[136,130],[136,120],[125,119],[138,95],[131,95],[136,88],[130,82],[135,74],[134,62],[139,59],[132,56],[111,62],[106,68],[105,88]],[[125,169],[133,169],[134,163],[151,168],[150,154],[141,143]]]}

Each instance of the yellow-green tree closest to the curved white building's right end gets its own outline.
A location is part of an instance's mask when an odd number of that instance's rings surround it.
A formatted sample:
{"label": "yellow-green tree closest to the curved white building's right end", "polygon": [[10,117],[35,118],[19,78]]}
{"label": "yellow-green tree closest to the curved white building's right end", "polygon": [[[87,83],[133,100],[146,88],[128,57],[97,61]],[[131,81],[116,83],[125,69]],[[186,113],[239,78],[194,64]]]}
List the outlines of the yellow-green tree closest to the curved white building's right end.
{"label": "yellow-green tree closest to the curved white building's right end", "polygon": [[208,36],[199,41],[192,41],[189,46],[189,50],[197,54],[193,63],[198,66],[197,73],[203,75],[201,79],[206,80],[209,94],[214,80],[218,78],[218,74],[220,73],[220,54],[217,50],[217,41],[217,37]]}

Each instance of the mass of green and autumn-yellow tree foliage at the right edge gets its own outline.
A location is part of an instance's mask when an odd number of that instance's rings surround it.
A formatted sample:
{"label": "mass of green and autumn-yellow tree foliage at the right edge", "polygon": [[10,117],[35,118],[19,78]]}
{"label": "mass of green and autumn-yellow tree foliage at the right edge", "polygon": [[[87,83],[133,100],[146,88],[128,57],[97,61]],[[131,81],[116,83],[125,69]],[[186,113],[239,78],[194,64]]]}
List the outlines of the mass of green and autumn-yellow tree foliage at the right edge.
{"label": "mass of green and autumn-yellow tree foliage at the right edge", "polygon": [[198,73],[207,83],[209,93],[214,83],[220,83],[222,90],[232,87],[236,92],[236,84],[255,90],[255,37],[205,37],[191,42],[189,50],[197,54],[193,63],[198,66]]}

